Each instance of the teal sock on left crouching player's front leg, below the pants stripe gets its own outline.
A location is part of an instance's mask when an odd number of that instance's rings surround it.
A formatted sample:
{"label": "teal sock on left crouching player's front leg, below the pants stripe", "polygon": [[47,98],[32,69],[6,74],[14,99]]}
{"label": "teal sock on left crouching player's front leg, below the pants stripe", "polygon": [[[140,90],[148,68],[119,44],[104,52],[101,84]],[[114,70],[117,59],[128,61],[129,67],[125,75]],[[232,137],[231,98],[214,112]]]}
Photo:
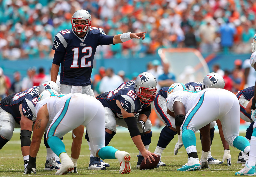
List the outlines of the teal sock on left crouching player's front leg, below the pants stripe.
{"label": "teal sock on left crouching player's front leg, below the pants stripe", "polygon": [[57,136],[50,136],[47,143],[57,156],[60,156],[61,153],[66,152],[64,143]]}

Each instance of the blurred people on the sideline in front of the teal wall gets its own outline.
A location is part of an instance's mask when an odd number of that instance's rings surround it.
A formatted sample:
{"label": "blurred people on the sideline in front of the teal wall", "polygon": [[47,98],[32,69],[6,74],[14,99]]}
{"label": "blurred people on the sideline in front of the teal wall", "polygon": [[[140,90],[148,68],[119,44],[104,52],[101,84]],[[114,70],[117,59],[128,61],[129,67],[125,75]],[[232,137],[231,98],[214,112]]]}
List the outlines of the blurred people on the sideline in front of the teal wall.
{"label": "blurred people on the sideline in front of the teal wall", "polygon": [[[170,72],[171,66],[166,63],[161,63],[159,60],[153,60],[147,63],[145,71],[149,72],[156,77],[157,90],[163,87],[169,87],[175,82],[181,82],[181,77],[176,76],[175,73]],[[10,94],[27,90],[32,86],[41,85],[44,81],[51,80],[50,72],[45,71],[45,68],[30,67],[27,70],[27,75],[21,77],[19,71],[13,73],[13,77],[9,78],[4,74],[4,70],[0,68],[0,100]],[[211,72],[220,74],[225,81],[224,89],[229,90],[236,94],[239,90],[253,86],[256,80],[256,72],[250,66],[249,59],[244,61],[236,59],[233,63],[232,70],[222,70],[219,64],[213,65]],[[92,71],[91,76],[91,87],[94,91],[95,96],[101,93],[108,92],[118,88],[123,82],[129,80],[136,80],[138,72],[132,73],[129,77],[123,70],[114,72],[114,68],[100,67],[98,71]],[[193,73],[191,73],[193,76]],[[188,82],[195,81],[190,77]],[[57,84],[60,86],[60,76],[57,77]],[[202,82],[202,81],[201,81]]]}

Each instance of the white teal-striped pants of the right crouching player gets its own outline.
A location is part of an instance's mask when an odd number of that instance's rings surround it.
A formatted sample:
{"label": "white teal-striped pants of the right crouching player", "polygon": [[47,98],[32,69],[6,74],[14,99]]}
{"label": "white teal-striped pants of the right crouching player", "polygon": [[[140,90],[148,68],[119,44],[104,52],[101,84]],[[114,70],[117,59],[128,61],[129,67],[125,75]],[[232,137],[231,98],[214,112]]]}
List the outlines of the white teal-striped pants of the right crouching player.
{"label": "white teal-striped pants of the right crouching player", "polygon": [[205,92],[187,112],[181,134],[185,129],[196,132],[217,119],[221,121],[225,140],[233,146],[234,139],[239,135],[240,109],[237,97],[226,90]]}

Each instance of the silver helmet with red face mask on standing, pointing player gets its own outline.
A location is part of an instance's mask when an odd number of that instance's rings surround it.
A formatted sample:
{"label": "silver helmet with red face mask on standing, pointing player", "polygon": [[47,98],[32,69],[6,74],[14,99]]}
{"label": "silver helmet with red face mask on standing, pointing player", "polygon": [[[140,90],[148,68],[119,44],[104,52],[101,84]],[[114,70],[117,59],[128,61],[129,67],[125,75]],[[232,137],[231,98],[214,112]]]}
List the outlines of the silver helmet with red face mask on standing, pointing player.
{"label": "silver helmet with red face mask on standing, pointing player", "polygon": [[[76,20],[85,20],[86,24],[77,25]],[[71,19],[72,29],[78,34],[88,32],[92,26],[92,17],[90,13],[86,10],[78,10],[74,13]]]}

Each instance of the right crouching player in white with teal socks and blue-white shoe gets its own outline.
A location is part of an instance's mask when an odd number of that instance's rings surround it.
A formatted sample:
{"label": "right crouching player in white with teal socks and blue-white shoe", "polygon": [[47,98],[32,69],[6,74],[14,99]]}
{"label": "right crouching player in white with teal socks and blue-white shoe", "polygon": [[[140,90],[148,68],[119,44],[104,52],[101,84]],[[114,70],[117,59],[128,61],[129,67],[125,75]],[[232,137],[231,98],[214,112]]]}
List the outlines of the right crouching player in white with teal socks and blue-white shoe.
{"label": "right crouching player in white with teal socks and blue-white shoe", "polygon": [[200,92],[179,90],[168,95],[166,106],[175,114],[177,133],[181,135],[189,157],[188,162],[178,171],[198,170],[201,165],[204,167],[208,164],[210,139],[208,140],[209,149],[203,150],[201,161],[199,161],[195,132],[202,128],[210,132],[210,123],[218,119],[227,143],[249,154],[249,141],[239,136],[239,101],[232,92],[219,88],[208,88]]}

